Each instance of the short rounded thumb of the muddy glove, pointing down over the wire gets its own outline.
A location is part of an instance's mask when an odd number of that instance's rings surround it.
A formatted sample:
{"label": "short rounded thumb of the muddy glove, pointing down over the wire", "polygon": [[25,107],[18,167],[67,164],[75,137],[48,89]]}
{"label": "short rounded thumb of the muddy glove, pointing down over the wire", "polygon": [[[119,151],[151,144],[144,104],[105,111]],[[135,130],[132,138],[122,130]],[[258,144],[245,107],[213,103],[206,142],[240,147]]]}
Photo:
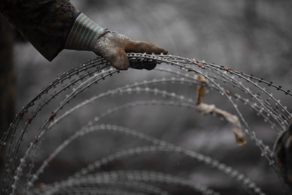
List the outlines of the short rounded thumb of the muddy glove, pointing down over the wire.
{"label": "short rounded thumb of the muddy glove, pointing down over the wire", "polygon": [[101,55],[107,61],[109,61],[114,68],[119,70],[126,70],[130,66],[130,62],[126,52],[123,49],[117,49],[113,52],[108,52],[104,54],[99,54],[98,52],[94,52],[96,55]]}

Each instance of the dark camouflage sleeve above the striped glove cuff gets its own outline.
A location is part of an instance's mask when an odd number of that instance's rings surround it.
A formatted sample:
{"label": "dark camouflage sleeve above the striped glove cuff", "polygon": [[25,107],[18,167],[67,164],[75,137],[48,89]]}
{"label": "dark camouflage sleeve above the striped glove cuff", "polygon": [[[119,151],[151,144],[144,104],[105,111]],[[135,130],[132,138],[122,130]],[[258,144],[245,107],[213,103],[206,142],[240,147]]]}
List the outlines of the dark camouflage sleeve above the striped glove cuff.
{"label": "dark camouflage sleeve above the striped glove cuff", "polygon": [[0,11],[49,61],[64,49],[80,14],[69,0],[1,0]]}

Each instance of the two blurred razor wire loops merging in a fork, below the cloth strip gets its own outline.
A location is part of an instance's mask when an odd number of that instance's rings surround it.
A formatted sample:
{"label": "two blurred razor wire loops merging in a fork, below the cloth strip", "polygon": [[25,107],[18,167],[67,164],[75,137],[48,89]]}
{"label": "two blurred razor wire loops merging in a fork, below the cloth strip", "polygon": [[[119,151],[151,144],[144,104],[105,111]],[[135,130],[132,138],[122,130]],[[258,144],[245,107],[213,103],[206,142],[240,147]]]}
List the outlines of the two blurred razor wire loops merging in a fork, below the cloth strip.
{"label": "two blurred razor wire loops merging in a fork, below the cloth strip", "polygon": [[[35,180],[38,179],[39,174],[44,172],[44,168],[48,166],[48,163],[50,163],[65,147],[67,147],[69,144],[71,144],[75,139],[78,137],[84,136],[88,133],[95,132],[95,131],[109,131],[109,132],[117,132],[124,135],[129,135],[132,137],[137,137],[141,140],[147,140],[152,142],[152,144],[155,144],[154,146],[144,146],[144,147],[137,147],[137,148],[131,148],[128,150],[124,150],[121,152],[117,152],[115,154],[109,155],[107,157],[102,158],[101,160],[95,161],[92,164],[89,164],[87,168],[81,169],[81,171],[76,172],[74,176],[69,177],[70,179],[78,178],[84,175],[87,175],[89,172],[92,172],[94,169],[100,168],[102,165],[105,165],[111,161],[114,161],[116,159],[125,157],[125,156],[131,156],[133,154],[141,154],[141,153],[154,153],[157,151],[164,151],[164,152],[174,152],[179,153],[184,156],[188,156],[190,158],[196,159],[197,161],[202,161],[206,165],[210,165],[212,167],[217,168],[219,171],[224,172],[229,177],[233,178],[236,182],[238,182],[243,188],[247,187],[250,189],[253,189],[255,193],[258,193],[260,195],[264,195],[264,193],[261,191],[259,187],[256,186],[254,182],[251,182],[250,179],[245,177],[243,174],[239,173],[236,170],[233,170],[231,167],[226,166],[223,163],[220,163],[216,160],[213,160],[209,156],[205,156],[201,153],[190,151],[187,149],[184,149],[179,146],[175,146],[173,144],[167,143],[164,140],[157,139],[155,137],[151,137],[147,134],[144,134],[142,132],[138,132],[136,130],[131,130],[128,128],[124,128],[121,126],[116,125],[95,125],[90,127],[83,127],[81,130],[77,131],[73,136],[71,136],[69,139],[65,140],[60,146],[57,147],[57,149],[43,162],[43,164],[39,167],[39,169],[36,171],[36,173],[32,176],[32,180],[30,180],[27,185],[28,188],[32,186]],[[156,146],[157,145],[157,146]]]}

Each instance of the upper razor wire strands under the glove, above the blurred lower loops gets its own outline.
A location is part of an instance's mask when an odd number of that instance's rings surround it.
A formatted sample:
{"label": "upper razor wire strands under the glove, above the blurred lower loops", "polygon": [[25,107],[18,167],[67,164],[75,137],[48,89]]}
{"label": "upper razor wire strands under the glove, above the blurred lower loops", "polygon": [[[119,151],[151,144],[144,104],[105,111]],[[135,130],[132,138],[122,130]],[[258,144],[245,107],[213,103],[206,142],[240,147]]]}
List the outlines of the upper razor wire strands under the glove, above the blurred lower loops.
{"label": "upper razor wire strands under the glove, above the blurred lower loops", "polygon": [[[256,111],[256,113],[263,117],[265,122],[269,122],[271,124],[272,129],[276,130],[278,133],[283,132],[288,128],[288,121],[291,119],[292,114],[287,110],[287,106],[284,106],[280,103],[280,100],[274,97],[274,94],[267,91],[263,84],[267,84],[268,87],[272,87],[279,92],[283,92],[286,95],[292,96],[290,90],[284,90],[279,85],[275,85],[273,82],[267,82],[263,78],[257,78],[254,75],[247,75],[230,68],[225,68],[224,66],[218,66],[215,64],[206,63],[205,61],[197,61],[196,59],[188,59],[181,56],[173,56],[172,54],[169,55],[147,55],[147,54],[135,54],[130,53],[128,54],[131,66],[143,66],[148,64],[160,64],[166,63],[168,65],[173,65],[179,69],[186,70],[188,73],[182,73],[180,71],[173,71],[170,69],[165,68],[155,68],[154,70],[171,73],[178,78],[171,77],[171,78],[161,78],[161,79],[154,79],[150,81],[144,81],[140,83],[134,83],[130,85],[126,85],[124,87],[119,87],[116,89],[109,90],[108,92],[101,93],[98,96],[93,96],[91,99],[83,101],[82,103],[78,104],[77,106],[72,107],[70,110],[66,111],[63,115],[56,119],[56,115],[59,111],[64,108],[66,104],[69,103],[71,99],[75,96],[83,92],[85,89],[88,89],[93,84],[98,84],[99,82],[105,80],[108,77],[111,77],[114,74],[118,74],[121,71],[115,70],[111,68],[111,65],[105,61],[103,58],[98,57],[94,60],[88,60],[86,63],[81,63],[77,67],[72,67],[71,70],[64,72],[60,77],[56,77],[55,80],[48,84],[47,87],[41,89],[39,94],[36,94],[32,100],[26,106],[23,106],[22,110],[16,115],[14,121],[12,122],[11,126],[1,138],[0,141],[0,149],[6,145],[6,139],[8,135],[11,134],[11,140],[8,144],[8,154],[5,163],[5,172],[4,172],[4,180],[2,185],[2,194],[15,194],[16,189],[20,185],[20,178],[23,176],[23,168],[29,163],[29,172],[27,173],[27,186],[29,178],[33,177],[32,174],[34,168],[34,159],[37,158],[37,152],[39,151],[41,140],[44,139],[45,132],[53,127],[53,125],[57,124],[62,118],[65,118],[70,113],[77,111],[79,108],[96,101],[105,96],[114,96],[116,94],[123,94],[123,93],[152,93],[152,94],[159,94],[163,97],[168,97],[171,99],[176,99],[176,101],[160,101],[159,103],[165,105],[175,105],[175,106],[186,106],[190,108],[196,107],[196,102],[192,99],[186,98],[182,95],[177,95],[173,92],[167,92],[165,90],[159,89],[150,89],[148,87],[141,87],[147,86],[150,84],[157,84],[157,83],[168,83],[168,82],[178,82],[182,84],[194,84],[197,85],[198,81],[194,77],[194,75],[203,75],[210,83],[204,84],[204,87],[219,92],[223,96],[227,98],[230,102],[230,105],[234,107],[234,110],[237,113],[237,116],[242,122],[241,129],[243,132],[248,135],[253,141],[255,141],[256,145],[261,150],[261,155],[265,157],[269,165],[274,167],[276,172],[279,172],[279,169],[274,163],[273,160],[273,153],[272,150],[263,143],[262,140],[258,139],[256,133],[252,131],[248,127],[248,123],[246,122],[245,118],[243,117],[241,111],[239,110],[237,104],[234,103],[233,99],[236,99],[243,103],[243,105],[248,106],[252,110]],[[259,93],[253,92],[251,88],[246,87],[241,81],[237,80],[237,76],[239,79],[246,81],[248,84],[251,84],[258,89],[260,93],[266,94],[268,99],[263,99]],[[75,87],[77,84],[79,86]],[[228,91],[221,84],[227,84],[234,88],[239,89],[239,91],[243,92],[243,94],[232,93]],[[57,89],[56,89],[57,88]],[[66,92],[67,90],[72,89],[68,95],[66,95],[65,99],[61,101],[60,105],[55,108],[52,114],[48,117],[48,120],[42,125],[39,132],[36,134],[34,140],[29,144],[29,148],[25,151],[22,158],[20,158],[19,165],[15,165],[18,161],[18,152],[20,151],[20,146],[24,140],[24,135],[27,132],[27,129],[31,122],[34,120],[36,115],[41,111],[45,106],[49,105],[51,101],[53,101],[57,96]],[[55,91],[54,91],[55,90]],[[247,97],[244,97],[246,96]],[[43,100],[44,99],[44,100]],[[37,102],[40,102],[35,109],[33,106]],[[271,103],[274,103],[273,106]],[[117,112],[120,109],[125,109],[130,106],[136,106],[139,104],[145,104],[146,102],[140,103],[129,103],[127,105],[117,107],[108,111],[107,113],[103,113],[100,115],[96,122],[111,113]],[[150,102],[147,102],[150,103]],[[157,102],[152,102],[153,104]],[[278,107],[279,106],[279,107]],[[33,109],[33,110],[32,110]],[[32,112],[31,115],[28,116],[29,111]],[[27,117],[27,120],[24,122],[24,127],[20,127],[21,121]],[[20,128],[20,130],[18,130]],[[19,131],[19,134],[17,132]],[[34,152],[32,154],[32,151]],[[15,169],[15,166],[17,167]],[[27,187],[26,187],[27,188]],[[26,191],[25,191],[26,193]]]}

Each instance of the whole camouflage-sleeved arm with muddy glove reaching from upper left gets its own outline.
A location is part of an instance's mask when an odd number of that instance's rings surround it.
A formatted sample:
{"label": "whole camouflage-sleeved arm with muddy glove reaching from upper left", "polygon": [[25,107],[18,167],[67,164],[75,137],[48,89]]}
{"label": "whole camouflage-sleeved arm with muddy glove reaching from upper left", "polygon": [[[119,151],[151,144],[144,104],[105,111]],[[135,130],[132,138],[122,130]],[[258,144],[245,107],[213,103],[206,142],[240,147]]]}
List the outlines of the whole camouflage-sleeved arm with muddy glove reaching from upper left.
{"label": "whole camouflage-sleeved arm with muddy glove reaching from upper left", "polygon": [[49,61],[63,49],[86,50],[125,70],[129,67],[126,52],[167,54],[154,44],[99,27],[69,0],[1,0],[0,11]]}

